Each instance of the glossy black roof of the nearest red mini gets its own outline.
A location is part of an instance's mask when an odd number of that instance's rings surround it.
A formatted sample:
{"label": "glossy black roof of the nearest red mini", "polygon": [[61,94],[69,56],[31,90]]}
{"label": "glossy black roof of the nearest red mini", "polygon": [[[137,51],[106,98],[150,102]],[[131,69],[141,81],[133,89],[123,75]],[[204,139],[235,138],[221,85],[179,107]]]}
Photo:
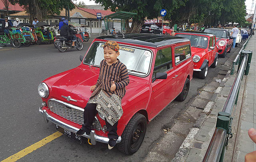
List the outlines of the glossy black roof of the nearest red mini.
{"label": "glossy black roof of the nearest red mini", "polygon": [[123,34],[116,34],[112,36],[100,36],[96,39],[113,40],[116,42],[138,44],[138,45],[150,46],[154,48],[190,41],[187,38],[182,38],[177,36],[168,36],[168,35],[161,35],[161,34],[140,34],[140,33],[124,34],[124,38],[123,38]]}

